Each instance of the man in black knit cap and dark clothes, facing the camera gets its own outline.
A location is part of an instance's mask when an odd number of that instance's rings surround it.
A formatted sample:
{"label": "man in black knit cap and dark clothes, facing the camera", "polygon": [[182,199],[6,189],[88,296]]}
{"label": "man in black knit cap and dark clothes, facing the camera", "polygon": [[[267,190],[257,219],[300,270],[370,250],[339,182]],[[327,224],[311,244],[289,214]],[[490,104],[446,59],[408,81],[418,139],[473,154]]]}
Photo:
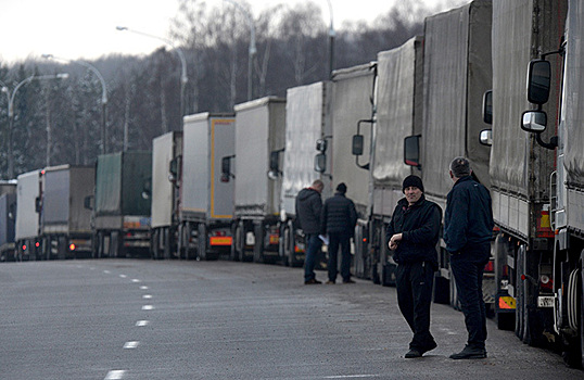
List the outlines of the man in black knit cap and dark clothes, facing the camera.
{"label": "man in black knit cap and dark clothes, facing the camera", "polygon": [[397,263],[397,304],[414,332],[405,357],[414,358],[436,347],[430,333],[430,306],[437,268],[436,243],[442,210],[426,200],[419,177],[407,176],[402,189],[406,197],[397,202],[385,238]]}

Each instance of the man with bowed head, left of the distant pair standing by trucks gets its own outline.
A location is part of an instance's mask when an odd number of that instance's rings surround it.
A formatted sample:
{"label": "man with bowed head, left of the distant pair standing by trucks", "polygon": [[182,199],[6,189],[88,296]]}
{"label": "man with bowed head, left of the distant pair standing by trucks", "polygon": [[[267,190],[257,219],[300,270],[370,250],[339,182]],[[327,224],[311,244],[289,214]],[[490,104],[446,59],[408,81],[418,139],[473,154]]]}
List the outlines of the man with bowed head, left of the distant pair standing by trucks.
{"label": "man with bowed head, left of the distant pair standing by trucks", "polygon": [[316,179],[312,187],[302,189],[296,195],[296,220],[306,237],[306,257],[304,258],[304,283],[321,283],[316,279],[316,256],[322,242],[318,238],[320,233],[320,213],[322,212],[322,199],[320,193],[325,183]]}

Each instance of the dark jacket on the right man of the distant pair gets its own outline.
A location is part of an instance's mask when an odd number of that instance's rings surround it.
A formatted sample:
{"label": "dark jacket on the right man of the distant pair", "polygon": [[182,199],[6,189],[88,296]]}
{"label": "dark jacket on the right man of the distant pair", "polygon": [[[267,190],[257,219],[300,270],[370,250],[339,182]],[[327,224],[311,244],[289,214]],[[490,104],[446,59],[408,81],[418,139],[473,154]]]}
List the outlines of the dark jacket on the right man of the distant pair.
{"label": "dark jacket on the right man of the distant pair", "polygon": [[322,229],[321,233],[348,233],[353,236],[355,225],[357,224],[357,211],[355,203],[338,192],[334,197],[325,201],[322,207]]}

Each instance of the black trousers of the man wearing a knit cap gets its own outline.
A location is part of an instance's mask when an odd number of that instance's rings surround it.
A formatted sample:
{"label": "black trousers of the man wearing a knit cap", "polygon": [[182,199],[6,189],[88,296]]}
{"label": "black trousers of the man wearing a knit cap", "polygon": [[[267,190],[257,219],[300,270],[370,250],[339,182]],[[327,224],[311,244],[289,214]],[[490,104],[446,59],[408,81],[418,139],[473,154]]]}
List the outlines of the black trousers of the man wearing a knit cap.
{"label": "black trousers of the man wearing a knit cap", "polygon": [[404,263],[395,270],[397,304],[414,332],[410,349],[424,350],[434,342],[430,333],[430,306],[434,269],[429,263]]}

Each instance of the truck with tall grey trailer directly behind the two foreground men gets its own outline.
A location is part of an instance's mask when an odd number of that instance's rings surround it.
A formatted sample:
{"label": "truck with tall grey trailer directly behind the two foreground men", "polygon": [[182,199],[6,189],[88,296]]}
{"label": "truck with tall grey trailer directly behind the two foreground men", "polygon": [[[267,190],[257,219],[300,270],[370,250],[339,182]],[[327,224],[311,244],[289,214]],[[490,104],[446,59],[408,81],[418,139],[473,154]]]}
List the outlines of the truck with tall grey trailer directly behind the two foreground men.
{"label": "truck with tall grey trailer directly behind the two foreground men", "polygon": [[[492,88],[492,2],[475,0],[426,18],[423,52],[423,116],[421,136],[405,141],[405,161],[421,169],[424,194],[446,208],[453,187],[448,167],[456,156],[467,157],[473,176],[487,188],[490,149],[480,143],[485,124],[483,93]],[[414,173],[416,174],[416,172]],[[493,261],[483,278],[483,295],[494,306]],[[441,239],[434,301],[458,307],[449,254]]]}

